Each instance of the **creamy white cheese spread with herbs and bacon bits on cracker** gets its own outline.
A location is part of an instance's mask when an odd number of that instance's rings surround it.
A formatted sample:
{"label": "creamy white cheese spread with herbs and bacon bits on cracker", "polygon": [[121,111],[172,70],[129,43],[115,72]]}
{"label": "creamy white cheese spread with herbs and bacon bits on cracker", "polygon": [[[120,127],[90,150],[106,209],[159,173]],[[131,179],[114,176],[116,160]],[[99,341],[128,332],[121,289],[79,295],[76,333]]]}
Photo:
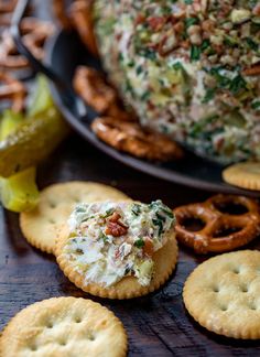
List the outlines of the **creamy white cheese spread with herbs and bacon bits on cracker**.
{"label": "creamy white cheese spread with herbs and bacon bits on cracker", "polygon": [[84,275],[85,285],[110,286],[128,275],[149,285],[153,253],[165,245],[174,216],[161,201],[79,204],[68,226],[63,253]]}

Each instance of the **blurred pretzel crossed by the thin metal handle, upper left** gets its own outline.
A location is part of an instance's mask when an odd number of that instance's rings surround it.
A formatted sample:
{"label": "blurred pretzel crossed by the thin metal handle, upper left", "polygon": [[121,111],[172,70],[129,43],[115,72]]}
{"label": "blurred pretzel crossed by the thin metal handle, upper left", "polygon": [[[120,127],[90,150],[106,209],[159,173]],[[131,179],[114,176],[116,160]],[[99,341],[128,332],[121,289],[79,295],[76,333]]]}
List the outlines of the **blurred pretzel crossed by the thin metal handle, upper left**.
{"label": "blurred pretzel crossed by the thin metal handle, upper left", "polygon": [[[21,22],[23,41],[35,57],[44,57],[43,45],[46,39],[53,33],[54,28],[50,22],[35,18],[24,18]],[[9,30],[2,33],[0,45],[0,67],[9,69],[25,68],[29,62],[17,51]]]}

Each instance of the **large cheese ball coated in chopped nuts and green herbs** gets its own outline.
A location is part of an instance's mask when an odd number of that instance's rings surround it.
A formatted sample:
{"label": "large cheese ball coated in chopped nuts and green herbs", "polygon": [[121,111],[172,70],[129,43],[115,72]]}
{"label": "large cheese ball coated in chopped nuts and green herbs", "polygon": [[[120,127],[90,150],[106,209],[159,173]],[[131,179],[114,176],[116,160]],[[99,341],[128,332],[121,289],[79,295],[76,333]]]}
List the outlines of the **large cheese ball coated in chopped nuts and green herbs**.
{"label": "large cheese ball coated in chopped nuts and green herbs", "polygon": [[96,0],[109,79],[142,126],[227,164],[260,159],[257,0]]}

